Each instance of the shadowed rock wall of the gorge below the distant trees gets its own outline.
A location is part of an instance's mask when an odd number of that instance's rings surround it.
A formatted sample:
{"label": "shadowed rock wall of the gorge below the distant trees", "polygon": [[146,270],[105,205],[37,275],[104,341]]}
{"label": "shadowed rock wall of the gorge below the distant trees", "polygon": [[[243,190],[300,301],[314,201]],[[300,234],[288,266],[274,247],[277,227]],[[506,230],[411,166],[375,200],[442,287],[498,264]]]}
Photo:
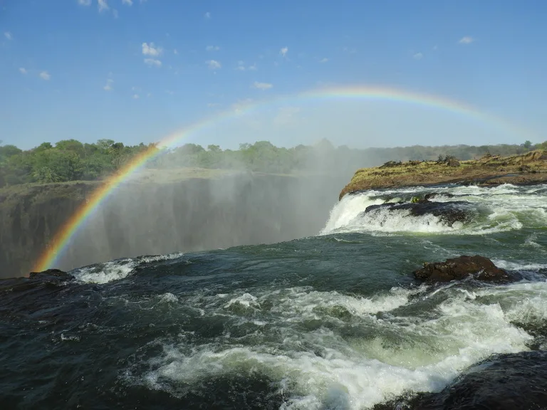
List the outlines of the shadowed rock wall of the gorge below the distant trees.
{"label": "shadowed rock wall of the gorge below the distant trees", "polygon": [[[315,235],[341,178],[239,175],[127,184],[90,216],[55,267]],[[27,275],[97,186],[49,184],[0,192],[0,277]]]}

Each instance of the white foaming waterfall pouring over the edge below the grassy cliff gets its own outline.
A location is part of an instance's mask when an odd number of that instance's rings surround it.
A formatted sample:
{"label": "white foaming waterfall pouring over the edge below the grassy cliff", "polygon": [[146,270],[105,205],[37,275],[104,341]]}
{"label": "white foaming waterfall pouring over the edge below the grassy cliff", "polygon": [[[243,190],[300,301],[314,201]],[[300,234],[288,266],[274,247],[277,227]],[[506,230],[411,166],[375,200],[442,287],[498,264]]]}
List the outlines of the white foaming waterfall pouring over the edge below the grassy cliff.
{"label": "white foaming waterfall pouring over the edge below the grassy cliff", "polygon": [[[382,191],[382,194],[400,194],[408,197],[408,194],[421,195],[427,191],[432,190],[417,187],[415,189]],[[449,226],[444,224],[442,219],[431,214],[411,216],[409,211],[390,209],[376,209],[363,214],[367,206],[385,202],[378,197],[380,192],[371,190],[344,196],[330,211],[328,222],[320,234],[417,232],[484,235],[519,230],[524,226],[545,226],[547,224],[547,193],[543,195],[529,194],[529,189],[511,184],[494,188],[444,186],[434,191],[439,193],[434,197],[434,201],[469,201],[477,209],[481,209],[483,214],[486,212],[486,216],[474,218],[464,224],[457,222]],[[457,195],[457,197],[454,198],[447,194]]]}

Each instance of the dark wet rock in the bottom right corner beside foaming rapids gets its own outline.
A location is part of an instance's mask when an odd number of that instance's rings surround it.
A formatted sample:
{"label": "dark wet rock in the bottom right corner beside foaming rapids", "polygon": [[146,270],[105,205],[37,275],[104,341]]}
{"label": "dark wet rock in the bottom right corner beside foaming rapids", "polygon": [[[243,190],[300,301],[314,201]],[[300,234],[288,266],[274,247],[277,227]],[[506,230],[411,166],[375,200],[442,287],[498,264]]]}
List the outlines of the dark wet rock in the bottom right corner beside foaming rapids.
{"label": "dark wet rock in the bottom right corner beside foaming rapids", "polygon": [[374,410],[547,409],[547,352],[494,354],[438,393],[377,404]]}

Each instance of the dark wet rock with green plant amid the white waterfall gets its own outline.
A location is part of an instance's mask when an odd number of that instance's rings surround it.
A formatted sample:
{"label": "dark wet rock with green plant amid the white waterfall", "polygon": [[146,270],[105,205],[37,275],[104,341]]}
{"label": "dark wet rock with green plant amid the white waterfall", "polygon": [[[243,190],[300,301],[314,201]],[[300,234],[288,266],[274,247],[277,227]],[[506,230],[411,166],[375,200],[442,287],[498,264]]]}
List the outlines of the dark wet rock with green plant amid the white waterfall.
{"label": "dark wet rock with green plant amid the white waterfall", "polygon": [[467,201],[432,202],[420,200],[415,202],[398,202],[397,204],[380,204],[367,206],[364,213],[369,214],[380,209],[390,211],[409,211],[410,216],[432,214],[439,217],[445,224],[452,226],[457,221],[467,221],[473,214],[471,204]]}

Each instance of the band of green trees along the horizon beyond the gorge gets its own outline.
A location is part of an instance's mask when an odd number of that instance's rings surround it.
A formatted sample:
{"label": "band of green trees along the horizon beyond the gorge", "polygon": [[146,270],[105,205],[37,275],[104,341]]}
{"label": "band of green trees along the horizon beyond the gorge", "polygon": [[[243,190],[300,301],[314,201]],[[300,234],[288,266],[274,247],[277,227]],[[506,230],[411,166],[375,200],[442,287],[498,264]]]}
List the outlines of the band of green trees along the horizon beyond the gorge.
{"label": "band of green trees along the horizon beyond the gorge", "polygon": [[[353,172],[361,167],[374,167],[387,161],[437,159],[451,155],[458,159],[474,159],[485,154],[502,156],[521,154],[532,149],[547,149],[547,142],[532,144],[444,145],[440,147],[352,149],[334,147],[328,140],[293,148],[276,147],[268,141],[240,144],[239,149],[221,149],[218,145],[204,148],[184,144],[173,149],[161,149],[160,155],[147,163],[150,168],[202,167],[209,169],[247,169],[272,174],[317,172]],[[95,144],[63,140],[56,144],[44,142],[26,151],[0,142],[0,187],[32,182],[51,183],[78,180],[98,180],[108,177],[146,149],[158,149],[156,144],[124,145],[113,140],[98,140]]]}

